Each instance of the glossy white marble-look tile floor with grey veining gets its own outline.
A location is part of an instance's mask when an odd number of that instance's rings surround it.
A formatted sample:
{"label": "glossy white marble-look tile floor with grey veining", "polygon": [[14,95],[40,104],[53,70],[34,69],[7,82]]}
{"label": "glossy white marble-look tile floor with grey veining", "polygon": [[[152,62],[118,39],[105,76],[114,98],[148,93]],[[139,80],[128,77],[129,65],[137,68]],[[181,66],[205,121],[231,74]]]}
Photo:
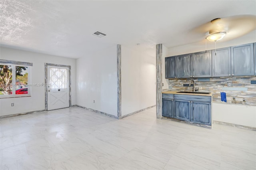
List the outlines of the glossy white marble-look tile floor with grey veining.
{"label": "glossy white marble-look tile floor with grey veining", "polygon": [[256,131],[79,107],[0,119],[1,170],[255,170]]}

